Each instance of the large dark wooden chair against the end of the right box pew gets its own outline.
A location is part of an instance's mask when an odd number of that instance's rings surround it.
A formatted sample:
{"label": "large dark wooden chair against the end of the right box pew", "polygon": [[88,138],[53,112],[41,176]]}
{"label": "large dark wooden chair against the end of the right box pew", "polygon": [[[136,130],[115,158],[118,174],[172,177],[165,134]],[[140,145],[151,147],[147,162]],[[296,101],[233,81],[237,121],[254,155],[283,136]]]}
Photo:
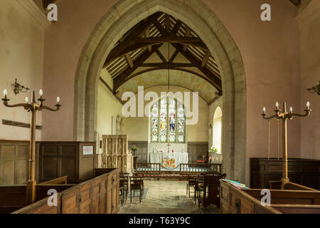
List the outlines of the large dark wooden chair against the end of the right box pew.
{"label": "large dark wooden chair against the end of the right box pew", "polygon": [[215,204],[220,207],[220,179],[225,178],[226,175],[206,175],[203,178],[203,186],[200,194],[198,194],[198,207],[203,204],[207,207],[209,204]]}

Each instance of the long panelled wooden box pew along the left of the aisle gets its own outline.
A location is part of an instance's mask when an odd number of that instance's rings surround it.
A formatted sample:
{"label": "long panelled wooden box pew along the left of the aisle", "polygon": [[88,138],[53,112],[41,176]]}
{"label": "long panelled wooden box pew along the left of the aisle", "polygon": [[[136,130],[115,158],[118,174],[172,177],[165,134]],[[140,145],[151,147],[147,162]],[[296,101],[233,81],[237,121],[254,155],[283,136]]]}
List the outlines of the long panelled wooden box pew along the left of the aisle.
{"label": "long panelled wooden box pew along the left of the aisle", "polygon": [[[103,174],[105,173],[105,174]],[[97,169],[97,177],[78,185],[37,185],[44,197],[48,188],[68,188],[58,193],[58,205],[48,206],[48,197],[18,209],[13,214],[116,214],[119,212],[119,169]]]}

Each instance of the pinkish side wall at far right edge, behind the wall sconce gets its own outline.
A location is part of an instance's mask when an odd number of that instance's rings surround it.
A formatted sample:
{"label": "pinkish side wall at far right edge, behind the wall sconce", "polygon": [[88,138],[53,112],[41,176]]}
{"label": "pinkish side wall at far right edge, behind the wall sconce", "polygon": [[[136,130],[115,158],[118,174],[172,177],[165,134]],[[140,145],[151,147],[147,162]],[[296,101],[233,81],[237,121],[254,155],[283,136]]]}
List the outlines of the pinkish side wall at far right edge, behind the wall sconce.
{"label": "pinkish side wall at far right edge, behind the wall sconce", "polygon": [[301,26],[301,100],[312,113],[301,121],[302,157],[320,159],[320,96],[306,91],[320,80],[320,1],[312,1],[297,17]]}

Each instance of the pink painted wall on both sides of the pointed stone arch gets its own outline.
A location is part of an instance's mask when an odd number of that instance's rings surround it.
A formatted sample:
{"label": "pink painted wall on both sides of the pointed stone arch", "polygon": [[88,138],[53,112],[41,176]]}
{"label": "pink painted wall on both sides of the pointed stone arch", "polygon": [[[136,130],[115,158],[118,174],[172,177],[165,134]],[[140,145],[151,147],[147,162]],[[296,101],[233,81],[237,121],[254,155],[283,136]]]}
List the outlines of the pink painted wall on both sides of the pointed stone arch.
{"label": "pink painted wall on both sides of the pointed stone arch", "polygon": [[[247,157],[267,156],[267,121],[274,103],[300,107],[299,29],[297,7],[289,1],[203,0],[223,22],[238,45],[247,77]],[[60,113],[43,117],[43,140],[73,140],[74,77],[83,46],[100,18],[117,1],[60,1],[59,21],[46,31],[44,89],[49,100],[60,95]],[[260,20],[260,6],[272,6],[272,21]],[[304,100],[303,100],[304,103]],[[289,107],[288,107],[289,108]],[[275,123],[272,123],[275,130]],[[289,156],[300,155],[300,120],[290,121]],[[272,155],[276,155],[275,131]]]}

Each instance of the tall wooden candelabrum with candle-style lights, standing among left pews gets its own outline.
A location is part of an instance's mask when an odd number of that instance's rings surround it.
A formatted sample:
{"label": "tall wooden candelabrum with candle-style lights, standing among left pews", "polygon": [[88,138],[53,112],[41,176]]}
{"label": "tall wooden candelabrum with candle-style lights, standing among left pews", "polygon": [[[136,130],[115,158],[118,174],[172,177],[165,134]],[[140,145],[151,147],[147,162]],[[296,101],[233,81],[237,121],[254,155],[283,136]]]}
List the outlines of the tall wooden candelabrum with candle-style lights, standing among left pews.
{"label": "tall wooden candelabrum with candle-style lights, standing among left pews", "polygon": [[45,99],[43,99],[43,90],[39,91],[40,98],[38,99],[39,103],[36,102],[36,96],[34,91],[32,91],[31,102],[29,103],[28,97],[26,97],[26,103],[18,103],[16,105],[9,105],[9,99],[7,98],[8,92],[4,90],[4,98],[1,99],[4,101],[4,105],[9,108],[23,107],[26,111],[31,113],[31,123],[30,123],[30,145],[29,145],[29,160],[28,160],[28,182],[26,189],[26,203],[32,204],[36,202],[36,180],[35,180],[35,160],[36,160],[36,112],[42,111],[43,109],[50,111],[60,110],[61,105],[60,98],[57,98],[57,104],[54,108],[49,108],[43,105]]}

